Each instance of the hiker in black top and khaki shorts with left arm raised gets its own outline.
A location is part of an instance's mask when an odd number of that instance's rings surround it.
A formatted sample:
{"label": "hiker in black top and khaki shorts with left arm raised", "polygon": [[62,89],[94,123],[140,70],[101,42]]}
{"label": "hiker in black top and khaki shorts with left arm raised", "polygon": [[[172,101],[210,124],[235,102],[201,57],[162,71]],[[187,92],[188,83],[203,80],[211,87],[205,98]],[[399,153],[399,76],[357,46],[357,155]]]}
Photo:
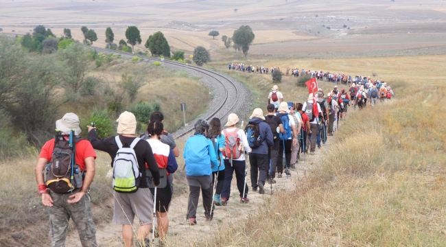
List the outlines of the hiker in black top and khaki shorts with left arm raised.
{"label": "hiker in black top and khaki shorts with left arm raised", "polygon": [[[108,153],[111,157],[111,165],[113,167],[113,222],[122,225],[122,239],[126,247],[133,246],[133,228],[132,224],[134,217],[138,216],[139,228],[137,231],[137,239],[141,242],[148,237],[150,229],[152,228],[152,215],[154,200],[150,192],[148,179],[146,177],[145,165],[152,174],[154,186],[160,184],[159,167],[156,164],[152,148],[147,141],[143,141],[135,136],[137,132],[137,119],[133,113],[125,111],[119,115],[117,119],[117,133],[116,137],[108,137],[104,140],[97,140],[96,128],[87,126],[89,128],[89,140],[95,150],[101,150]],[[123,161],[117,154],[125,154],[132,149],[137,160],[136,164],[130,165],[130,170],[123,171],[122,167],[127,167],[128,163]],[[128,154],[127,154],[128,155]],[[133,156],[133,154],[130,154]],[[133,161],[130,161],[133,162]],[[117,164],[120,165],[117,168]],[[137,170],[135,170],[137,169]],[[125,176],[116,176],[117,172],[131,174],[134,178],[134,185],[132,188],[124,189],[115,185],[122,184],[121,179],[131,179]],[[134,176],[139,174],[139,178]],[[138,185],[139,182],[139,185]],[[124,182],[126,183],[126,182]]]}

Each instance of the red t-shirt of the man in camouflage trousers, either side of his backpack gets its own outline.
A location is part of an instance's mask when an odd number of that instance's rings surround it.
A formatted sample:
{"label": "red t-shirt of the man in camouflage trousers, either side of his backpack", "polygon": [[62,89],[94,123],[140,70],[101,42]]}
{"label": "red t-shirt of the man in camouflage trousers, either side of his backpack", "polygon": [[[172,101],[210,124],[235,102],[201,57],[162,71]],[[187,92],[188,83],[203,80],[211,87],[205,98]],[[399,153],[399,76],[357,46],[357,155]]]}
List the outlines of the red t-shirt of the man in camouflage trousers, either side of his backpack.
{"label": "red t-shirt of the man in camouflage trousers, either side of his backpack", "polygon": [[[81,140],[75,145],[75,162],[80,166],[82,171],[85,171],[85,158],[93,157],[96,159],[96,153],[93,149],[93,146],[89,141]],[[42,147],[42,151],[40,151],[39,158],[46,158],[51,161],[51,154],[53,154],[54,150],[54,139],[51,139],[45,143]]]}

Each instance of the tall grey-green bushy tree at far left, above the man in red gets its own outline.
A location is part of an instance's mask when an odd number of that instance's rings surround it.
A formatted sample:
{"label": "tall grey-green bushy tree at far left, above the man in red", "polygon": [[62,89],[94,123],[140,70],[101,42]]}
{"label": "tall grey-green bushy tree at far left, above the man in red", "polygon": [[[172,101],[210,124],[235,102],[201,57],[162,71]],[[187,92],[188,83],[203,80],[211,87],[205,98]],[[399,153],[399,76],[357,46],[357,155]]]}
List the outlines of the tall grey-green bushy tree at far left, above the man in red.
{"label": "tall grey-green bushy tree at far left, above the man in red", "polygon": [[60,60],[64,61],[66,67],[66,80],[64,81],[67,89],[73,93],[78,93],[84,84],[86,71],[89,68],[89,50],[85,49],[80,43],[70,45],[66,49],[58,52]]}

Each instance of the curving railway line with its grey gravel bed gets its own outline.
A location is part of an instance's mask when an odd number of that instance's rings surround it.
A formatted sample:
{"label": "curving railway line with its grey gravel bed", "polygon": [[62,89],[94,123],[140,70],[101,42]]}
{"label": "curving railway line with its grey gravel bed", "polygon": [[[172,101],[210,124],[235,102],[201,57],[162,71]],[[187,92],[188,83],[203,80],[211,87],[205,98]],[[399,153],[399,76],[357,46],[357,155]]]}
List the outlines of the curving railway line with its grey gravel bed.
{"label": "curving railway line with its grey gravel bed", "polygon": [[[196,67],[190,64],[183,64],[182,62],[174,62],[170,60],[161,60],[161,58],[152,58],[143,55],[130,54],[122,51],[114,51],[99,47],[93,47],[98,52],[104,54],[119,54],[123,57],[133,58],[137,56],[143,58],[146,62],[161,62],[161,66],[169,69],[187,71],[189,75],[201,78],[200,82],[209,88],[212,95],[211,102],[207,108],[206,113],[198,116],[198,118],[210,120],[212,117],[218,117],[222,123],[226,123],[227,116],[230,113],[236,113],[239,116],[246,116],[250,111],[252,100],[251,93],[246,87],[237,80],[222,75],[221,73]],[[175,90],[166,85],[166,90]],[[191,89],[193,90],[193,89]],[[180,106],[172,106],[178,107]],[[187,108],[187,106],[186,106]],[[195,120],[194,120],[195,121]],[[185,137],[193,130],[193,122],[188,123],[188,126],[181,128],[174,133],[176,139]]]}

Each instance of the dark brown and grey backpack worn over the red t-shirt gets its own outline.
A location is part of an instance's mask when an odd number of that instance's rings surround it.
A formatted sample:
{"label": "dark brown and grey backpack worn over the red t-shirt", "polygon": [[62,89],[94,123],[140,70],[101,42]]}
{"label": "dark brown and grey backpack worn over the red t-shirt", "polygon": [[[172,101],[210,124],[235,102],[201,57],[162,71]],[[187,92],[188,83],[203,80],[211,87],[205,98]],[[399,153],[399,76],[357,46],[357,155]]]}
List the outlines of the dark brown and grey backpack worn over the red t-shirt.
{"label": "dark brown and grey backpack worn over the red t-shirt", "polygon": [[[65,140],[69,137],[69,140]],[[46,165],[45,184],[54,193],[68,193],[82,187],[83,171],[75,164],[75,144],[82,138],[71,134],[56,134],[51,162]],[[73,178],[71,178],[73,173]]]}

